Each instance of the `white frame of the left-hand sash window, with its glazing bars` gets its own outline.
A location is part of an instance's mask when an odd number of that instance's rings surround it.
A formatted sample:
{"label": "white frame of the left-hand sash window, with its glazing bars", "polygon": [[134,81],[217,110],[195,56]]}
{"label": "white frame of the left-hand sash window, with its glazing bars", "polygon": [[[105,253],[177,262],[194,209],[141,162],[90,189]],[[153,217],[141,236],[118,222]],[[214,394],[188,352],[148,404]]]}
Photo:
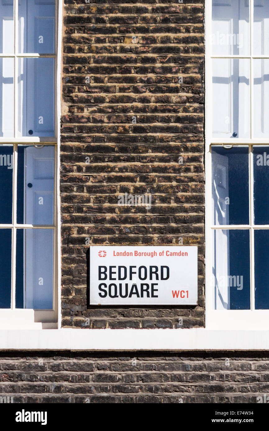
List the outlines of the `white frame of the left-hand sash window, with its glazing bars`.
{"label": "white frame of the left-hand sash window, with its glazing bars", "polygon": [[[14,53],[0,53],[0,58],[14,59],[14,134],[13,137],[0,137],[0,146],[13,145],[13,215],[12,224],[1,224],[0,228],[12,229],[12,277],[11,277],[11,308],[0,309],[0,329],[56,329],[61,324],[60,308],[60,89],[61,89],[61,46],[62,46],[62,2],[55,0],[55,53],[19,53],[19,24],[18,24],[19,0],[13,0],[14,16]],[[18,76],[19,58],[54,58],[54,137],[22,137],[18,136]],[[22,225],[16,220],[17,207],[17,148],[18,145],[28,144],[34,146],[54,146],[54,223],[53,225]],[[54,294],[52,310],[16,309],[16,229],[17,228],[45,228],[54,231]]]}

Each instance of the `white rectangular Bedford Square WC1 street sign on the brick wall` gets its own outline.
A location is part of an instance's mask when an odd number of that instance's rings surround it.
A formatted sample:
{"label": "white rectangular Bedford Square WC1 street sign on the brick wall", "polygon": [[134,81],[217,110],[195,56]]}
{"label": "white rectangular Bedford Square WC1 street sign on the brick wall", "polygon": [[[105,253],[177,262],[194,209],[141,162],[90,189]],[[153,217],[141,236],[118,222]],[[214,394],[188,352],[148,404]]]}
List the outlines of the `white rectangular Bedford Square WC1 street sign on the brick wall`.
{"label": "white rectangular Bedford Square WC1 street sign on the brick wall", "polygon": [[197,247],[90,247],[90,304],[196,305]]}

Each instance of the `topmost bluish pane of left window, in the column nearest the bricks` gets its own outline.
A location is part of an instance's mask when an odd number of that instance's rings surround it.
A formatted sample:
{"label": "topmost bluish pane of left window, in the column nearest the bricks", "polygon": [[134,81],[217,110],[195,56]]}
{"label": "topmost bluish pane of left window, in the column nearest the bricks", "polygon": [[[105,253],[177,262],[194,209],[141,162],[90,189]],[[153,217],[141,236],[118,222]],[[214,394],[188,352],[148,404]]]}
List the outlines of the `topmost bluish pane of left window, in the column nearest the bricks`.
{"label": "topmost bluish pane of left window, in the column nearest the bricks", "polygon": [[19,52],[54,54],[55,2],[23,0],[19,4]]}

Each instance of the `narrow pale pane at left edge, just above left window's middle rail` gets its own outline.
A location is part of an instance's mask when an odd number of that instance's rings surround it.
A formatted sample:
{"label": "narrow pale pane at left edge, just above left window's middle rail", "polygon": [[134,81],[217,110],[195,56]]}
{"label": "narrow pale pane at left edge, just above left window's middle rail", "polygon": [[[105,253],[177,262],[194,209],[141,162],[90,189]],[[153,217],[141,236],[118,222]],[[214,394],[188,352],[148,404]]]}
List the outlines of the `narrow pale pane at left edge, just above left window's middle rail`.
{"label": "narrow pale pane at left edge, just above left window's middle rail", "polygon": [[0,58],[0,136],[14,135],[14,60]]}

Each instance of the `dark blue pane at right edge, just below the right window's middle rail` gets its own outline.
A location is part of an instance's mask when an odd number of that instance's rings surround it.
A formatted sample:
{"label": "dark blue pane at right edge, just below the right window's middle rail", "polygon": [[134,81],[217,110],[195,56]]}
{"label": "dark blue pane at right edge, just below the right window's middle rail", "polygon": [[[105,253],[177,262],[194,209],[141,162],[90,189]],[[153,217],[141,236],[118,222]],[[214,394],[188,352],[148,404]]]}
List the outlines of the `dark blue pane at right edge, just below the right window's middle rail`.
{"label": "dark blue pane at right edge, just below the right window's middle rail", "polygon": [[269,147],[253,147],[254,223],[269,224]]}

